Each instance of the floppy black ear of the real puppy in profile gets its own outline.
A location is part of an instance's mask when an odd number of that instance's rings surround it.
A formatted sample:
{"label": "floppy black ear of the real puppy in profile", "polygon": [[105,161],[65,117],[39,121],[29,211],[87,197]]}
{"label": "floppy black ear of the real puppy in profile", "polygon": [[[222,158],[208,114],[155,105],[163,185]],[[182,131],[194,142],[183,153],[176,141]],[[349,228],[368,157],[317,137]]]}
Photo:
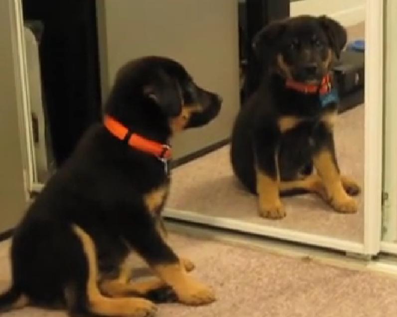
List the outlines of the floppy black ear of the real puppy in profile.
{"label": "floppy black ear of the real puppy in profile", "polygon": [[164,71],[158,71],[149,83],[143,86],[142,93],[167,116],[177,116],[182,110],[182,90],[178,82]]}

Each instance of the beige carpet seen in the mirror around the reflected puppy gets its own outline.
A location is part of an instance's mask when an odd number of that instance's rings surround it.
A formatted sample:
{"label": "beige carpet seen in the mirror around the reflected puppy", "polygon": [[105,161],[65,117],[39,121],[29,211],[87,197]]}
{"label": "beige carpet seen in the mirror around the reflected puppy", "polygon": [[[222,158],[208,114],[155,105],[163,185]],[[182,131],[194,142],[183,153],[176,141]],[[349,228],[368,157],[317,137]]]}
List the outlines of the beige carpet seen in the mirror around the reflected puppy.
{"label": "beige carpet seen in the mirror around the reflected puppy", "polygon": [[[349,39],[363,37],[364,29],[364,23],[349,27]],[[339,115],[335,126],[341,171],[355,178],[362,187],[364,118],[364,105],[360,105]],[[233,176],[229,146],[193,160],[173,170],[172,174],[169,208],[363,241],[364,193],[358,197],[359,211],[356,214],[337,213],[320,198],[302,195],[282,199],[287,211],[284,219],[268,220],[258,216],[256,197],[242,189]]]}

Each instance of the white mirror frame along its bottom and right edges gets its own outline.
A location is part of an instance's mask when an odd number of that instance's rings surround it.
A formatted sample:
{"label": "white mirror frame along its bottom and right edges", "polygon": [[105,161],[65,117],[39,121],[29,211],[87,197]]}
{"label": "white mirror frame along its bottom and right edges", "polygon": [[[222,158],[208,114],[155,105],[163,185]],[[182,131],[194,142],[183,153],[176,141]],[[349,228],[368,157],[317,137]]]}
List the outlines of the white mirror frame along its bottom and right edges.
{"label": "white mirror frame along its bottom and right edges", "polygon": [[348,252],[374,255],[380,251],[382,218],[383,137],[383,1],[366,1],[365,52],[365,184],[363,243],[191,211],[166,209],[171,219],[285,239]]}

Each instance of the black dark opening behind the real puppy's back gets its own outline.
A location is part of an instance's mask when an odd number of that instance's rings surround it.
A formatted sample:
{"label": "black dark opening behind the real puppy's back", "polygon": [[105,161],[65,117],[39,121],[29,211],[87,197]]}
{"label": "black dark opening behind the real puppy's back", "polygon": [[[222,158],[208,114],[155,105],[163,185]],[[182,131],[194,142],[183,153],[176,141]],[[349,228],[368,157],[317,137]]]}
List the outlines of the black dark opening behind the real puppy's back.
{"label": "black dark opening behind the real puppy's back", "polygon": [[43,104],[59,167],[86,128],[101,118],[95,1],[22,0],[23,17],[42,25]]}

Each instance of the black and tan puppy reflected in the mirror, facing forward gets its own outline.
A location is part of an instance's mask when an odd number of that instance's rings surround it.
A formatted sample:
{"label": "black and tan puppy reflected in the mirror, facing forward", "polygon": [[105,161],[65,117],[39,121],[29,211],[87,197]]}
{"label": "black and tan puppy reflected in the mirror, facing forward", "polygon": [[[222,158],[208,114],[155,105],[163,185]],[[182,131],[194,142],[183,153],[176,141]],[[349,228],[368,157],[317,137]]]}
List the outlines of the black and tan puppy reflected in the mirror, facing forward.
{"label": "black and tan puppy reflected in the mirror, facing forward", "polygon": [[[359,186],[341,175],[334,148],[337,90],[332,66],[345,29],[326,16],[298,16],[254,38],[264,74],[235,122],[234,172],[258,194],[260,215],[282,218],[280,194],[315,192],[340,212],[356,212]],[[312,166],[316,174],[312,173]]]}

